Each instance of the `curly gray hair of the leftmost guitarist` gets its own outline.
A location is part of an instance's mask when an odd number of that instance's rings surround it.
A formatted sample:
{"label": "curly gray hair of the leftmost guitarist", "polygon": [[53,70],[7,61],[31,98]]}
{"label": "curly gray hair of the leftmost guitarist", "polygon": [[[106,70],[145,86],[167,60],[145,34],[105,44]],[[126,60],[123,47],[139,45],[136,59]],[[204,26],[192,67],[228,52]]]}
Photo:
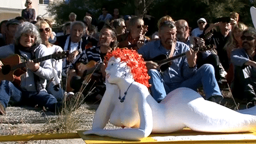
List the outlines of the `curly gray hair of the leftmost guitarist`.
{"label": "curly gray hair of the leftmost guitarist", "polygon": [[18,26],[14,36],[15,45],[19,45],[22,34],[32,34],[33,36],[35,36],[34,44],[39,45],[41,43],[39,30],[37,30],[37,27],[34,24],[26,21]]}

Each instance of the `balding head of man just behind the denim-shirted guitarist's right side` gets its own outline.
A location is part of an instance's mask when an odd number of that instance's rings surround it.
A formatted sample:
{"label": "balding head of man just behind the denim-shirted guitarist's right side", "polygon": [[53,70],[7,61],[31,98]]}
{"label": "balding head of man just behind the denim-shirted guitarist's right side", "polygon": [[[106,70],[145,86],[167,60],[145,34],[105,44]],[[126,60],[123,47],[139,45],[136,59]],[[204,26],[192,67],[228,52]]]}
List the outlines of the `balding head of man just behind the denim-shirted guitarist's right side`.
{"label": "balding head of man just behind the denim-shirted guitarist's right side", "polygon": [[188,27],[187,21],[178,20],[175,22],[175,25],[177,28],[177,34],[176,34],[177,39],[182,42],[185,42],[185,40],[187,40],[189,36],[189,27]]}

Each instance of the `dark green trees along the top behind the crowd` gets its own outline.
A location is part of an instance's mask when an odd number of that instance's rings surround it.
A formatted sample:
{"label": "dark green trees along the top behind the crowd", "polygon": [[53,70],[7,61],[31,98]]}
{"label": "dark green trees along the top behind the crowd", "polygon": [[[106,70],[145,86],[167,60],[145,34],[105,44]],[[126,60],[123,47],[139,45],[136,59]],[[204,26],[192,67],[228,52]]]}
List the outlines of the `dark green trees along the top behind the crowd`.
{"label": "dark green trees along the top behind the crowd", "polygon": [[56,15],[57,24],[63,24],[68,21],[71,12],[75,12],[77,20],[83,20],[87,11],[98,18],[103,6],[108,7],[110,14],[113,13],[114,8],[119,8],[120,15],[152,15],[156,20],[152,25],[156,25],[157,20],[164,15],[170,15],[174,20],[188,21],[190,27],[195,28],[196,21],[201,17],[212,23],[215,18],[228,16],[233,11],[240,14],[243,23],[252,26],[249,8],[255,6],[255,2],[252,0],[70,0],[69,3],[49,5],[49,12]]}

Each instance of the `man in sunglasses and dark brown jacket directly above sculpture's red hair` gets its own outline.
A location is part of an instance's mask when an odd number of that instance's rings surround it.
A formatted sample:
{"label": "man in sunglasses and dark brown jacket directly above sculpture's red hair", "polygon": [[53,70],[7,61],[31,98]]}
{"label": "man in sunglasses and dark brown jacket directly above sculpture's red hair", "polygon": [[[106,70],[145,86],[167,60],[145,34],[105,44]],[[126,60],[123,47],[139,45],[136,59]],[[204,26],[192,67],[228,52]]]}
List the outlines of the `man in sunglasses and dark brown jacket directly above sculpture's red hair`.
{"label": "man in sunglasses and dark brown jacket directly above sculpture's red hair", "polygon": [[148,27],[144,25],[142,18],[131,18],[127,29],[129,33],[124,33],[117,37],[120,48],[127,47],[129,49],[138,50],[150,40],[149,37],[145,36],[145,30],[147,30]]}

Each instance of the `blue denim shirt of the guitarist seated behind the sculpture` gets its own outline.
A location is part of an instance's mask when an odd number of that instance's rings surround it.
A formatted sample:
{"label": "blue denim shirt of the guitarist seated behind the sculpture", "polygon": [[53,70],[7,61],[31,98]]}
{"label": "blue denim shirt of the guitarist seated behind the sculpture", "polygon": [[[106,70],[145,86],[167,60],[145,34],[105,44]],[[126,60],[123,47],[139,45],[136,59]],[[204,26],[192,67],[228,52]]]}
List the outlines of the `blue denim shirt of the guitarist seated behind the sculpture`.
{"label": "blue denim shirt of the guitarist seated behind the sculpture", "polygon": [[[173,56],[185,53],[190,48],[187,44],[177,41]],[[150,41],[137,51],[144,59],[153,59],[159,55],[168,55],[169,50],[165,49],[161,44],[161,40]],[[187,58],[185,56],[172,60],[172,65],[162,72],[163,79],[168,79],[168,85],[178,87],[183,81],[194,75],[197,68],[189,68]]]}

